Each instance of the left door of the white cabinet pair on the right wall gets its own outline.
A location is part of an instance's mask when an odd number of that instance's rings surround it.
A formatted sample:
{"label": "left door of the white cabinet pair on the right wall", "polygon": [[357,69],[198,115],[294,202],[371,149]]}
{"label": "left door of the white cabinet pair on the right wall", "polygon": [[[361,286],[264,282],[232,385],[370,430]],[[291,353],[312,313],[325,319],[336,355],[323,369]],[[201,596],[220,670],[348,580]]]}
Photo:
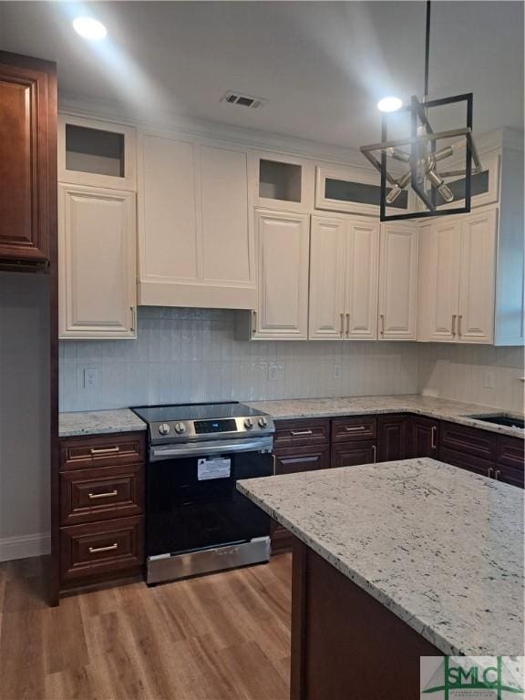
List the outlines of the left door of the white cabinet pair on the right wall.
{"label": "left door of the white cabinet pair on the right wall", "polygon": [[445,217],[419,232],[419,329],[422,340],[456,339],[461,221]]}

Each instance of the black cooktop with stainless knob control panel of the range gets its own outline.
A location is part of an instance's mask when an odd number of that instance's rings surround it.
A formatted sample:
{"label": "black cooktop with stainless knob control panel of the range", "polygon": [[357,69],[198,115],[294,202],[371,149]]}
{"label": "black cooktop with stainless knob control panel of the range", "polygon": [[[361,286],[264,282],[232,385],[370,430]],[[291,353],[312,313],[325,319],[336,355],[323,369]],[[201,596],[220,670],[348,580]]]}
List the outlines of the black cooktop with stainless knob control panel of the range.
{"label": "black cooktop with stainless knob control panel of the range", "polygon": [[149,443],[193,442],[272,435],[272,417],[236,402],[139,406],[132,410],[146,421]]}

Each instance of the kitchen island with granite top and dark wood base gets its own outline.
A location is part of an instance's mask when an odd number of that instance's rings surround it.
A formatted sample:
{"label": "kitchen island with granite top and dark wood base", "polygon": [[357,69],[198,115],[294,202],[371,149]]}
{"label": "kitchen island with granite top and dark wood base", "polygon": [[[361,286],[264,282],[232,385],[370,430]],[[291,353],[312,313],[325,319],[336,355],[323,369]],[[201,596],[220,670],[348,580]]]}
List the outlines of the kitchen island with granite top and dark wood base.
{"label": "kitchen island with granite top and dark wood base", "polygon": [[523,491],[430,458],[238,482],[295,536],[292,698],[412,698],[419,656],[523,654]]}

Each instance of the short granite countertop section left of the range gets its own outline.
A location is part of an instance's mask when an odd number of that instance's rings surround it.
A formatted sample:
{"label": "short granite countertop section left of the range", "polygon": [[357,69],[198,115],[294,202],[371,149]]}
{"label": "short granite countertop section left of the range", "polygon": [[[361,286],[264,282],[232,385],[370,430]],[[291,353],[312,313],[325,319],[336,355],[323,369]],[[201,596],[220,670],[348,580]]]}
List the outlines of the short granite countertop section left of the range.
{"label": "short granite countertop section left of the range", "polygon": [[130,433],[146,430],[146,423],[140,420],[129,408],[107,411],[77,411],[61,413],[58,416],[60,438],[74,438],[78,435],[102,435],[104,433]]}

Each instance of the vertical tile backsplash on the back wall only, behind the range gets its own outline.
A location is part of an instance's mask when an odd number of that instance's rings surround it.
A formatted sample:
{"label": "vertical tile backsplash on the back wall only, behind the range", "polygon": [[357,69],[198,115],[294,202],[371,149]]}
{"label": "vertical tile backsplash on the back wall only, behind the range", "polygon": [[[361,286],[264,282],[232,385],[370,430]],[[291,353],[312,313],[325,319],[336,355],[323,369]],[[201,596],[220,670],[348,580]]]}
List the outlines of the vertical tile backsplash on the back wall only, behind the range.
{"label": "vertical tile backsplash on the back wall only, behind the range", "polygon": [[206,309],[139,307],[138,323],[137,340],[60,343],[60,410],[417,392],[415,343],[251,343]]}

